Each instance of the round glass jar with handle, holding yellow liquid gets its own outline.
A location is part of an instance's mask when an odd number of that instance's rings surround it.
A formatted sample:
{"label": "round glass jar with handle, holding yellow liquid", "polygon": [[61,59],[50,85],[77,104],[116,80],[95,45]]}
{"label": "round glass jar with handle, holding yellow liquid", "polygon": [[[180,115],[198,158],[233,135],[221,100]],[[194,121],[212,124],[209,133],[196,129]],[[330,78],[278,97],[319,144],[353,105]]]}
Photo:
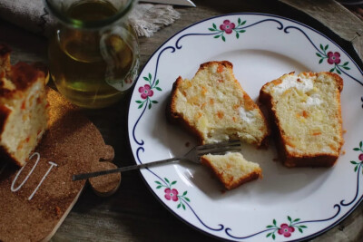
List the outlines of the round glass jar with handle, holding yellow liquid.
{"label": "round glass jar with handle, holding yellow liquid", "polygon": [[118,102],[136,79],[137,36],[127,22],[133,0],[44,0],[59,24],[49,43],[52,79],[84,108]]}

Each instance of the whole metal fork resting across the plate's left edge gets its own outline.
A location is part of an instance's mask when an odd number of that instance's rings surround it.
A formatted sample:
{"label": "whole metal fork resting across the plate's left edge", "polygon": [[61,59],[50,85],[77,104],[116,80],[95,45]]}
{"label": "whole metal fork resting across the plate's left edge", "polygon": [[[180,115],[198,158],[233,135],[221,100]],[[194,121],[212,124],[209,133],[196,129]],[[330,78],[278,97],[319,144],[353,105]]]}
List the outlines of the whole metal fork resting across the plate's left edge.
{"label": "whole metal fork resting across the plate's left edge", "polygon": [[194,163],[201,163],[200,157],[205,154],[219,154],[224,153],[227,151],[239,151],[240,150],[240,140],[229,140],[220,143],[214,144],[205,144],[194,146],[191,150],[189,150],[185,155],[182,157],[173,157],[171,159],[166,160],[157,160],[148,163],[143,163],[139,165],[132,165],[128,167],[122,167],[117,169],[106,169],[100,170],[96,172],[90,173],[81,173],[73,176],[73,180],[80,180],[80,179],[90,179],[93,177],[98,177],[102,175],[107,175],[111,173],[123,172],[132,169],[142,169],[142,168],[149,168],[156,165],[161,165],[165,163],[171,163],[180,160],[188,160]]}

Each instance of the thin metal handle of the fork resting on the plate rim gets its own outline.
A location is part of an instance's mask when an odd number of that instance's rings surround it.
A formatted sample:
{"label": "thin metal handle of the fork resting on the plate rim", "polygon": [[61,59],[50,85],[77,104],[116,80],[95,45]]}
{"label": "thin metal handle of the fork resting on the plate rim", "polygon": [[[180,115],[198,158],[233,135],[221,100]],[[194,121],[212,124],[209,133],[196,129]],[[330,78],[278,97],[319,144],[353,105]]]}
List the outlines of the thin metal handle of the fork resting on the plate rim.
{"label": "thin metal handle of the fork resting on the plate rim", "polygon": [[128,171],[128,170],[132,170],[132,169],[142,169],[142,168],[153,167],[156,165],[161,165],[164,163],[174,162],[174,161],[178,161],[178,160],[182,160],[182,158],[174,157],[171,159],[157,160],[157,161],[152,161],[149,163],[142,163],[139,165],[132,165],[132,166],[128,166],[128,167],[121,167],[121,168],[116,168],[116,169],[105,169],[105,170],[100,170],[100,171],[95,171],[95,172],[90,172],[90,173],[81,173],[81,174],[73,175],[72,179],[73,180],[90,179],[90,178],[94,178],[94,177],[98,177],[98,176]]}

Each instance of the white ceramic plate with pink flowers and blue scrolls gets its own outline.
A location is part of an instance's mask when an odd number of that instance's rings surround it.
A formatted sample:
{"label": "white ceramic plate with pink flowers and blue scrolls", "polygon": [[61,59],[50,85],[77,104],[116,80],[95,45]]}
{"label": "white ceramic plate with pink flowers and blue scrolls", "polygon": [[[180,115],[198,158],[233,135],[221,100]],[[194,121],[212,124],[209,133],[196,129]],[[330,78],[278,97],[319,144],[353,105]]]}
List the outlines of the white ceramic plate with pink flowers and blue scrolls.
{"label": "white ceramic plate with pink flowers and blue scrolls", "polygon": [[[229,30],[230,29],[230,30]],[[228,60],[252,99],[265,82],[295,71],[338,73],[345,154],[330,169],[287,169],[269,150],[244,146],[263,179],[223,191],[209,170],[190,163],[143,169],[142,177],[173,214],[215,237],[280,241],[315,237],[337,225],[362,200],[363,78],[337,44],[307,25],[261,14],[222,15],[175,34],[152,55],[132,93],[129,138],[138,163],[182,155],[195,141],[165,119],[172,83],[199,65]],[[188,147],[189,144],[189,147]]]}

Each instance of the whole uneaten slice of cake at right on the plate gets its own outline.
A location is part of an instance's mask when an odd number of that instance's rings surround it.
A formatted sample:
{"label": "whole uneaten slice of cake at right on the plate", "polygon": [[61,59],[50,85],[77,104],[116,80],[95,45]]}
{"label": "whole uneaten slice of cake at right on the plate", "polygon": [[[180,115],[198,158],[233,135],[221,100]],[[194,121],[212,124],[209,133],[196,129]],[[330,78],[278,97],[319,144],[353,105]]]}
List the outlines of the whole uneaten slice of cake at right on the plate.
{"label": "whole uneaten slice of cake at right on the plate", "polygon": [[289,73],[266,83],[260,102],[270,111],[280,159],[287,167],[330,167],[342,138],[340,92],[335,73]]}

